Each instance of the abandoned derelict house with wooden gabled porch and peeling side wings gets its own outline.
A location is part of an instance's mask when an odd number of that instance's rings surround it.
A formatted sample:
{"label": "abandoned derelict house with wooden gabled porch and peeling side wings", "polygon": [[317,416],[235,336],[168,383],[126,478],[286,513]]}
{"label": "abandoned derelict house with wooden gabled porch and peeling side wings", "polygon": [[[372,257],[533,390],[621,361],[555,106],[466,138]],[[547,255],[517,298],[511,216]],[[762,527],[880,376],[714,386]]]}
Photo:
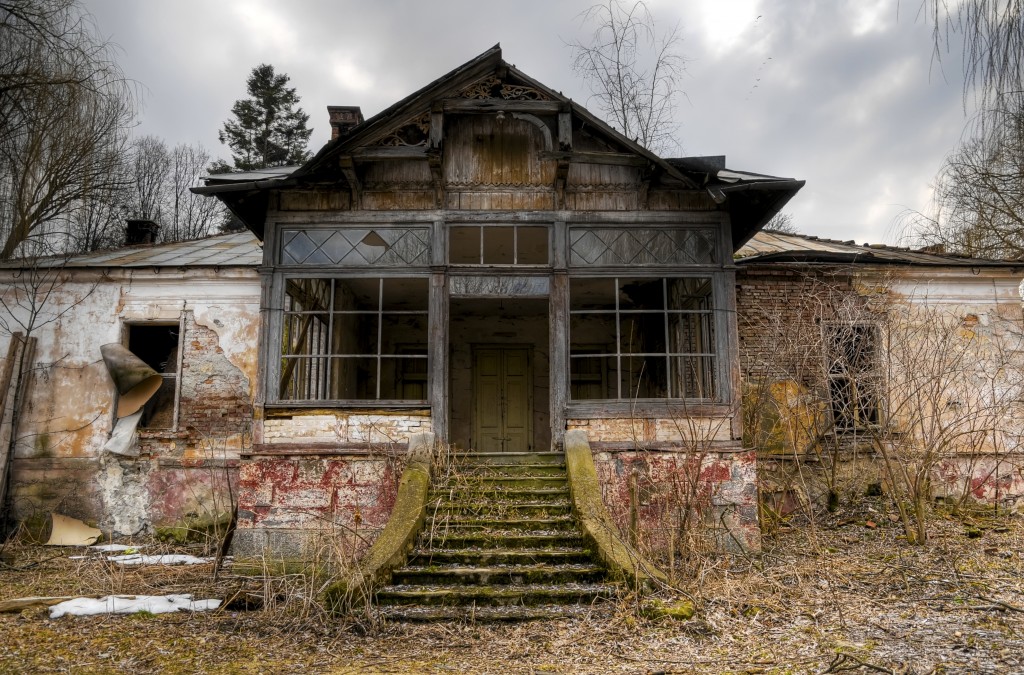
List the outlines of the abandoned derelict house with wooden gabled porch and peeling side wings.
{"label": "abandoned derelict house with wooden gabled porch and peeling side wings", "polygon": [[[251,233],[0,269],[0,349],[30,356],[0,438],[16,517],[131,535],[237,506],[237,555],[301,557],[326,529],[380,532],[413,434],[514,457],[582,431],[620,523],[670,530],[699,496],[711,540],[757,548],[755,451],[782,481],[781,455],[892,413],[861,387],[882,300],[955,305],[961,335],[998,333],[986,344],[1021,332],[1021,267],[758,234],[802,181],[656,157],[497,47],[368,120],[329,113],[305,165],[197,188]],[[837,336],[856,354],[808,366],[850,351]],[[116,453],[111,343],[160,375]],[[1016,349],[992,350],[991,382]],[[752,391],[773,396],[769,422],[741,410]],[[786,391],[806,428],[780,427]],[[1018,452],[1012,426],[977,450]],[[1020,494],[1019,464],[999,466]],[[943,470],[991,497],[978,467]]]}

